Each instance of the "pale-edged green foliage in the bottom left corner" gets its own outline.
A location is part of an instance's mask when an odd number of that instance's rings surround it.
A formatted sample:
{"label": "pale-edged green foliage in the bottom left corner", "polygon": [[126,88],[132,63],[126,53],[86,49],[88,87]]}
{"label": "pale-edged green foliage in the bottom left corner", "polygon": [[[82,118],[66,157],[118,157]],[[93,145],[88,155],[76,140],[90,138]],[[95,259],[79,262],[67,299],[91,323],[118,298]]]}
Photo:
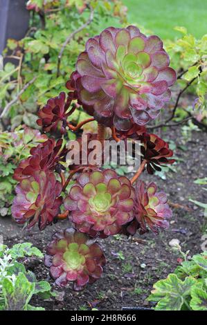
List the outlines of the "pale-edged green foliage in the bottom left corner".
{"label": "pale-edged green foliage in the bottom left corner", "polygon": [[27,271],[19,259],[42,258],[44,255],[31,243],[18,243],[8,248],[0,245],[0,310],[44,310],[29,304],[33,295],[42,299],[51,297],[47,281],[37,281],[35,274]]}

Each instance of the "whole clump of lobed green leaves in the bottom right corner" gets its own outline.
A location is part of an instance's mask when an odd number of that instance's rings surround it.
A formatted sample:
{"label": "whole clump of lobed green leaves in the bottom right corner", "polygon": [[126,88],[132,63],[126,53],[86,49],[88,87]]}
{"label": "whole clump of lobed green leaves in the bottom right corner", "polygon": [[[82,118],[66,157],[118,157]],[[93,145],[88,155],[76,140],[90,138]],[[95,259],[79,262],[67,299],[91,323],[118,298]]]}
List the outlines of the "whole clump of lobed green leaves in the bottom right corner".
{"label": "whole clump of lobed green leaves in the bottom right corner", "polygon": [[207,310],[206,252],[190,261],[186,257],[167,279],[154,284],[148,299],[157,301],[155,310]]}

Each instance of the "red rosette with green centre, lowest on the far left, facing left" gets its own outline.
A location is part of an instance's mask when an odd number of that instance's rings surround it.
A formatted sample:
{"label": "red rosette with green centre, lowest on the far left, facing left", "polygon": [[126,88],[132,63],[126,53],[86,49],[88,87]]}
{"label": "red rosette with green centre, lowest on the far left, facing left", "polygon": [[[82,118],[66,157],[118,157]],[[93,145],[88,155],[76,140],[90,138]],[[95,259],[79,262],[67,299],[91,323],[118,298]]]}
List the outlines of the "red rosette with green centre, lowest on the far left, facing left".
{"label": "red rosette with green centre, lowest on the far left, facing left", "polygon": [[61,191],[62,185],[52,171],[35,171],[33,176],[17,185],[12,216],[17,223],[28,223],[28,228],[38,223],[39,229],[43,230],[59,213]]}

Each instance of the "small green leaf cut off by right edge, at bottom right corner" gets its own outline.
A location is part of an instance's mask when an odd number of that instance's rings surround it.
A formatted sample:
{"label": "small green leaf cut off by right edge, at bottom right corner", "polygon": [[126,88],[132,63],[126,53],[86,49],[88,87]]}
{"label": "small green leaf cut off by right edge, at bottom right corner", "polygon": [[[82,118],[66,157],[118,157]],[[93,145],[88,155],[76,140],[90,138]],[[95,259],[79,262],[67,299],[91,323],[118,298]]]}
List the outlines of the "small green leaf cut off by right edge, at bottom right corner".
{"label": "small green leaf cut off by right edge, at bottom right corner", "polygon": [[190,307],[192,310],[207,310],[207,292],[206,289],[193,286],[191,290]]}

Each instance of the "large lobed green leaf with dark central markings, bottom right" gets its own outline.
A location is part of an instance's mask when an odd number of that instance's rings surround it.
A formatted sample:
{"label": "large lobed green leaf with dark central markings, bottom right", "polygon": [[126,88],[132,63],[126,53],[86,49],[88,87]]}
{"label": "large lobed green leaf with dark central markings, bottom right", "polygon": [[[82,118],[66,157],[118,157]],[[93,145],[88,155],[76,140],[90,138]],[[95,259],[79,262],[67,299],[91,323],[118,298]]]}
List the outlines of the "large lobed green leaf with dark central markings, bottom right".
{"label": "large lobed green leaf with dark central markings, bottom right", "polygon": [[181,281],[177,275],[170,274],[167,279],[159,280],[154,284],[152,293],[147,299],[158,301],[155,310],[181,310],[190,297],[190,289],[196,283],[193,277],[186,277]]}

